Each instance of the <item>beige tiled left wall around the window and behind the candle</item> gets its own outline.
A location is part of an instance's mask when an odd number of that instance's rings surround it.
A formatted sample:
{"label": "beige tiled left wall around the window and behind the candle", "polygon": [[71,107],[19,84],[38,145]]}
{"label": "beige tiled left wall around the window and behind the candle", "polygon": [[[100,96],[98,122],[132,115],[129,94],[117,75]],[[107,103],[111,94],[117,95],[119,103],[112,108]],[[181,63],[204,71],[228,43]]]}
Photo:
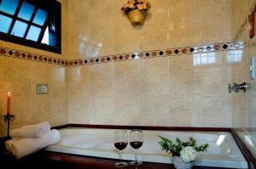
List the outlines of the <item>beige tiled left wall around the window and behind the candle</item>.
{"label": "beige tiled left wall around the window and behind the candle", "polygon": [[[62,18],[67,18],[67,1],[61,0]],[[30,54],[67,59],[67,22],[62,22],[62,54],[53,54],[36,48],[0,41],[3,48],[12,48]],[[7,54],[0,55],[0,115],[6,115],[7,93],[11,92],[11,128],[40,121],[51,126],[67,124],[67,67],[18,59]],[[21,52],[20,52],[21,54]],[[32,55],[33,56],[33,55]],[[22,58],[22,57],[20,57]],[[33,60],[33,61],[32,61]],[[48,84],[49,94],[37,95],[36,84]],[[1,118],[0,137],[6,136],[6,122]]]}

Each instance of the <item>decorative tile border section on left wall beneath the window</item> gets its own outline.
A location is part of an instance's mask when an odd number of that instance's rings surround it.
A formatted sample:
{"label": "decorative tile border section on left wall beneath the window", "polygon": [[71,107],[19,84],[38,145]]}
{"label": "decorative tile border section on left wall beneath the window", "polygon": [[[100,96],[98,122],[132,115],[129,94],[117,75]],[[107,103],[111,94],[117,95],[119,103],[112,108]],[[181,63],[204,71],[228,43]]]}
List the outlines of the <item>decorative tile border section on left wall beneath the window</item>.
{"label": "decorative tile border section on left wall beneath the window", "polygon": [[28,53],[20,50],[15,50],[12,48],[0,47],[0,55],[12,57],[16,59],[32,60],[32,61],[53,64],[53,65],[63,65],[63,66],[68,65],[67,59],[58,59],[58,58],[53,58],[53,57],[49,57],[41,54],[32,54],[32,53]]}

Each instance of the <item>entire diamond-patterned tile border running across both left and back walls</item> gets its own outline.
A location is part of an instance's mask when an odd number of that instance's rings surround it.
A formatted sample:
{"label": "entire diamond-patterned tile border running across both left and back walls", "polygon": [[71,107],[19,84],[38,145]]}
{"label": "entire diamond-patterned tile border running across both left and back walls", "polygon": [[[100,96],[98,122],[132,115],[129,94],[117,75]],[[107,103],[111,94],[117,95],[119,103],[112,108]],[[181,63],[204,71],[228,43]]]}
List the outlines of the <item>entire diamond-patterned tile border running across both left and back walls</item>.
{"label": "entire diamond-patterned tile border running across both left and back walls", "polygon": [[89,59],[57,59],[45,55],[40,54],[32,54],[20,50],[15,50],[11,48],[1,48],[0,47],[0,55],[17,58],[17,59],[26,59],[32,61],[38,61],[47,64],[53,65],[63,65],[63,66],[79,66],[79,65],[92,65],[92,64],[102,64],[108,62],[115,61],[125,61],[132,59],[148,59],[148,58],[159,58],[159,57],[167,57],[167,56],[175,56],[175,55],[183,55],[183,54],[203,54],[203,53],[211,53],[218,51],[228,51],[228,50],[236,50],[246,48],[245,42],[221,42],[214,44],[207,44],[201,46],[191,46],[191,47],[183,47],[183,48],[167,48],[160,50],[151,50],[144,52],[134,52],[130,54],[115,54],[108,56],[100,56],[96,58]]}

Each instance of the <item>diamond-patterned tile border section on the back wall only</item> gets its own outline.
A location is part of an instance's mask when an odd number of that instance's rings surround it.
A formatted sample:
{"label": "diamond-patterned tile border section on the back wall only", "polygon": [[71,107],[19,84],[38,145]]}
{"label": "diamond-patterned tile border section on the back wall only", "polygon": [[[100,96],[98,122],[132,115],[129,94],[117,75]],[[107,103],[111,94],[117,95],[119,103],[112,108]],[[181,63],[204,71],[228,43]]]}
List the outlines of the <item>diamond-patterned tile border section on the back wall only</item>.
{"label": "diamond-patterned tile border section on the back wall only", "polygon": [[132,59],[147,59],[147,58],[158,58],[158,57],[166,57],[166,56],[175,56],[182,54],[202,54],[202,53],[211,53],[218,51],[228,51],[228,50],[236,50],[246,48],[245,42],[222,42],[222,43],[214,43],[207,44],[201,46],[191,46],[184,48],[168,48],[168,49],[160,49],[160,50],[151,50],[144,52],[135,52],[130,54],[115,54],[108,56],[100,56],[96,58],[89,59],[74,59],[69,60],[70,66],[78,66],[78,65],[92,65],[92,64],[102,64],[108,62],[115,61],[125,61]]}

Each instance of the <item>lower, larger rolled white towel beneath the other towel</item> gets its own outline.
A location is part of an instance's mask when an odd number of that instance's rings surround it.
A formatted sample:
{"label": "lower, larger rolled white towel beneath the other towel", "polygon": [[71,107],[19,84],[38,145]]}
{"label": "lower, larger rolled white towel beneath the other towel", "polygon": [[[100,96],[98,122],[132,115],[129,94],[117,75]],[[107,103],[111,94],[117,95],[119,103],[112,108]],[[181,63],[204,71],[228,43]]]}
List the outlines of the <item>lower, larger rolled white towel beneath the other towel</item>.
{"label": "lower, larger rolled white towel beneath the other towel", "polygon": [[42,138],[13,138],[5,142],[5,147],[17,159],[23,156],[30,155],[40,149],[57,144],[61,139],[60,132],[57,130],[51,130],[44,134]]}

